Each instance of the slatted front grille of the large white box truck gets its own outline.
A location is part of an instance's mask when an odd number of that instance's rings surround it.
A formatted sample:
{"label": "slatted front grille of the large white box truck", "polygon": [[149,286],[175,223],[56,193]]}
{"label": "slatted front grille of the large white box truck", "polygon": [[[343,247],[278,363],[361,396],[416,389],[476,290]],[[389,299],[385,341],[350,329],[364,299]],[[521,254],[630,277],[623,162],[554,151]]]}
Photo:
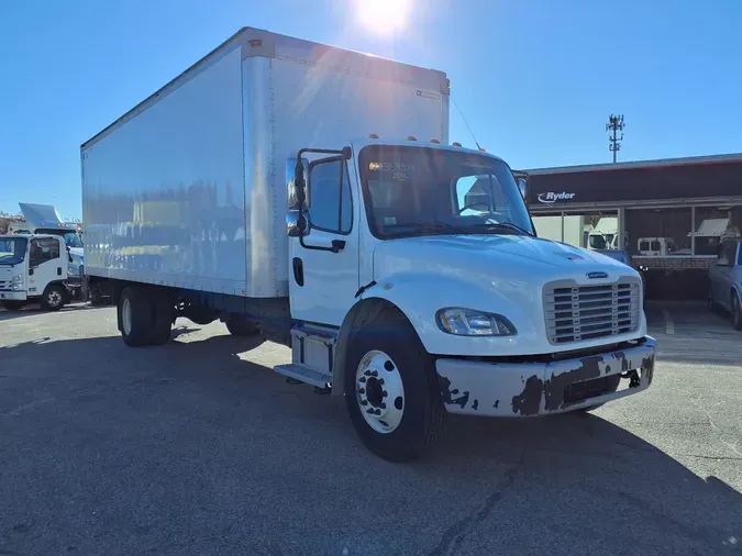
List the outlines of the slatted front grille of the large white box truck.
{"label": "slatted front grille of the large white box truck", "polygon": [[635,332],[641,320],[641,281],[577,286],[560,281],[544,288],[546,333],[552,344],[566,344]]}

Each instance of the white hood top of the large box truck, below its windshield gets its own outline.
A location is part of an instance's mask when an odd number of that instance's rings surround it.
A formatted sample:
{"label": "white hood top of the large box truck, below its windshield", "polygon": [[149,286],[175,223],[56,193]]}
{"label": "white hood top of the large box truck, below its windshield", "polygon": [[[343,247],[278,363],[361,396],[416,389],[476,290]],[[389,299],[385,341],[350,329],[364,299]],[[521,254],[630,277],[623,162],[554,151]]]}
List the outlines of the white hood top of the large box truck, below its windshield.
{"label": "white hood top of the large box truck, below its windshield", "polygon": [[539,286],[565,278],[582,283],[587,281],[587,274],[597,271],[607,273],[609,281],[635,274],[600,253],[525,235],[439,235],[379,244],[374,255],[374,279],[402,269],[469,279],[484,273],[488,281],[496,276]]}

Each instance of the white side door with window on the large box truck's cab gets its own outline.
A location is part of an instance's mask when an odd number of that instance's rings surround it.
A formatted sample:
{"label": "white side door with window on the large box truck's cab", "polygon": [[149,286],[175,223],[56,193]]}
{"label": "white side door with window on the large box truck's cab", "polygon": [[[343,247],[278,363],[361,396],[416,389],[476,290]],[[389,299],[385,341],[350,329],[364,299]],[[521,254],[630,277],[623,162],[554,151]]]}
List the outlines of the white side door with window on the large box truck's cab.
{"label": "white side door with window on the large box truck's cab", "polygon": [[340,326],[358,291],[358,200],[343,156],[309,164],[308,233],[289,241],[291,316]]}

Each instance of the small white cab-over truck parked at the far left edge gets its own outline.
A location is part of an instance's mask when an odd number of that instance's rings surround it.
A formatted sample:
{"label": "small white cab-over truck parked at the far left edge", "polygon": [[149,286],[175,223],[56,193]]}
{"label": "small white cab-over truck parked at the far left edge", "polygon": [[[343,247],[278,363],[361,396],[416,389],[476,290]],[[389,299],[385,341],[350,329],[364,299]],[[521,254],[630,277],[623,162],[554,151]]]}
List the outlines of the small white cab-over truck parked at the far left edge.
{"label": "small white cab-over truck parked at the far left edge", "polygon": [[67,245],[57,235],[0,235],[0,304],[19,310],[40,303],[58,311],[69,299]]}

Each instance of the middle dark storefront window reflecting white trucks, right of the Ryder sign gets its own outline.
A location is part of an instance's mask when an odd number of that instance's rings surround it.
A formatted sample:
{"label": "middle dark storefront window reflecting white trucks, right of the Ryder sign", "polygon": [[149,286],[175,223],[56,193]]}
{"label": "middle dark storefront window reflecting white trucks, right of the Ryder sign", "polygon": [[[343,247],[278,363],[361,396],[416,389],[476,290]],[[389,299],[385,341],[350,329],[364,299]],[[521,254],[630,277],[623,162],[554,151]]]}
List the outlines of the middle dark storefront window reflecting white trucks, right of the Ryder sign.
{"label": "middle dark storefront window reflecting white trucks, right of the Ryder sign", "polygon": [[632,256],[690,256],[691,209],[627,210],[627,249]]}

